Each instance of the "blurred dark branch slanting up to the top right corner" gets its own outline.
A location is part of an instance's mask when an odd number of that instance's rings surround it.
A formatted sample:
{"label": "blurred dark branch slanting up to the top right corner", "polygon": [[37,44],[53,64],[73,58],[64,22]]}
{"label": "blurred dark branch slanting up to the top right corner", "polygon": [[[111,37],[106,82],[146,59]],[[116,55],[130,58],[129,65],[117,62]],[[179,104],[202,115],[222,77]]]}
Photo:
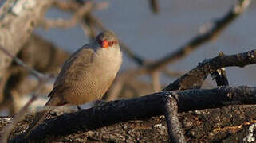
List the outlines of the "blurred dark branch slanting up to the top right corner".
{"label": "blurred dark branch slanting up to the top right corner", "polygon": [[216,20],[212,24],[212,28],[204,30],[203,33],[200,33],[199,36],[196,36],[191,39],[187,44],[183,45],[175,52],[163,56],[160,60],[156,60],[152,64],[148,64],[144,69],[141,69],[141,72],[153,72],[165,68],[167,64],[174,63],[175,61],[187,56],[189,53],[194,51],[200,45],[205,44],[207,41],[211,41],[219,36],[223,30],[230,25],[242,12],[249,6],[250,0],[243,0],[238,2],[236,6],[233,6],[231,10],[224,15],[224,17]]}

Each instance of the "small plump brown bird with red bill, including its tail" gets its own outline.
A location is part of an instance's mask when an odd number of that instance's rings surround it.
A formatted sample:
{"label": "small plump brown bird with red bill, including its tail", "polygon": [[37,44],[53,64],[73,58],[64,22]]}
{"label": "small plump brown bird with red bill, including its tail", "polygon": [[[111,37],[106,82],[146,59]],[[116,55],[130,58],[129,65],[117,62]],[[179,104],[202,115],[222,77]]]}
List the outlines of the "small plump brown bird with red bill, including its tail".
{"label": "small plump brown bird with red bill, including its tail", "polygon": [[32,133],[53,107],[99,101],[116,78],[121,63],[119,41],[112,31],[100,33],[89,44],[73,52],[57,75],[45,110],[36,114],[25,137]]}

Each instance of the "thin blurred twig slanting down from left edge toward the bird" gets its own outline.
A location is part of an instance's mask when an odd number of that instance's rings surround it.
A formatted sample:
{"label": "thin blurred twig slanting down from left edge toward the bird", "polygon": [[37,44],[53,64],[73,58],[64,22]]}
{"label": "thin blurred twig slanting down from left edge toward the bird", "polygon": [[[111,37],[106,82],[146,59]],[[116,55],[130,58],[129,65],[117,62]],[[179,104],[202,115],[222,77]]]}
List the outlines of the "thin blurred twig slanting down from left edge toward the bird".
{"label": "thin blurred twig slanting down from left edge toward the bird", "polygon": [[3,48],[0,45],[0,50],[2,52],[4,52],[7,56],[10,56],[10,58],[12,58],[18,65],[22,66],[22,68],[25,68],[27,71],[29,71],[32,75],[36,76],[38,79],[43,79],[45,77],[44,74],[42,74],[41,72],[37,72],[36,70],[34,70],[33,68],[30,68],[30,66],[28,66],[27,64],[25,64],[22,60],[20,60],[18,57],[13,56],[10,52],[8,52],[6,50],[6,48]]}

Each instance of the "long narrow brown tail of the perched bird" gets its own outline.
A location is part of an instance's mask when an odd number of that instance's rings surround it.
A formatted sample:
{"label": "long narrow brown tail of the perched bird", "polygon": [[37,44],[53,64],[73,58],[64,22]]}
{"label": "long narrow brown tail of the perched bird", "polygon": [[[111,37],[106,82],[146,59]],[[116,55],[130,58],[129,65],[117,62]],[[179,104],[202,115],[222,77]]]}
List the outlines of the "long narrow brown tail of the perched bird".
{"label": "long narrow brown tail of the perched bird", "polygon": [[53,106],[58,106],[61,103],[61,99],[58,97],[51,97],[48,102],[46,102],[44,110],[37,113],[36,117],[33,119],[33,122],[30,124],[30,127],[26,130],[25,138],[29,137],[32,130],[37,126],[42,119],[53,109]]}

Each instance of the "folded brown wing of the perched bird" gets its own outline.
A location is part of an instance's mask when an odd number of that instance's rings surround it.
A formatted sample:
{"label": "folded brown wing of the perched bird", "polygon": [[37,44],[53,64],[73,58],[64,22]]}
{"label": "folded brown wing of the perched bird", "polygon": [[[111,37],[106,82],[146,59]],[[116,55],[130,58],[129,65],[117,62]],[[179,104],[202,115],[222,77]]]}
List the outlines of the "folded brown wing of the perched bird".
{"label": "folded brown wing of the perched bird", "polygon": [[[93,62],[95,52],[91,48],[80,48],[65,61],[54,83],[53,91],[69,88],[69,84],[80,79],[81,72]],[[49,94],[49,96],[54,95]]]}

